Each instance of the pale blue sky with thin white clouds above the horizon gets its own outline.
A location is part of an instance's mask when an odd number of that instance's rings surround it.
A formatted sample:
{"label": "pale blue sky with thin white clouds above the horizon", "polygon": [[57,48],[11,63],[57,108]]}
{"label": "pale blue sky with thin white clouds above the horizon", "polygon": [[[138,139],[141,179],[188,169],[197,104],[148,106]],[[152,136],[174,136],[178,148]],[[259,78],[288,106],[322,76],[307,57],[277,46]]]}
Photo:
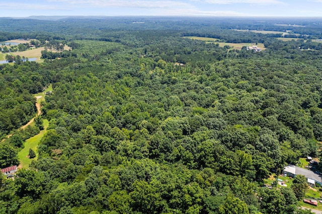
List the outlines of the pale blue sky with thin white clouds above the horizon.
{"label": "pale blue sky with thin white clouds above the horizon", "polygon": [[322,0],[11,0],[1,17],[262,16],[322,17]]}

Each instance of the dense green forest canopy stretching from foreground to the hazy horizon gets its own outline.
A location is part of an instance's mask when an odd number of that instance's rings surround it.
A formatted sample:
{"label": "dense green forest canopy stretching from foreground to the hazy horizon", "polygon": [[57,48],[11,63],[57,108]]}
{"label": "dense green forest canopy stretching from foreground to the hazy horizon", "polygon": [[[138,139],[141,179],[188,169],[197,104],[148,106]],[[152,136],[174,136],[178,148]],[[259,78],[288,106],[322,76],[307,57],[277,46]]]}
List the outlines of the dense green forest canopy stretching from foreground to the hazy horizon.
{"label": "dense green forest canopy stretching from foreground to the hazy horizon", "polygon": [[[0,65],[0,167],[19,165],[25,140],[49,122],[30,168],[0,179],[0,213],[311,213],[299,205],[301,176],[263,187],[287,164],[321,156],[322,25],[286,22],[0,19],[0,41],[70,47]],[[18,130],[49,84],[41,117]]]}

